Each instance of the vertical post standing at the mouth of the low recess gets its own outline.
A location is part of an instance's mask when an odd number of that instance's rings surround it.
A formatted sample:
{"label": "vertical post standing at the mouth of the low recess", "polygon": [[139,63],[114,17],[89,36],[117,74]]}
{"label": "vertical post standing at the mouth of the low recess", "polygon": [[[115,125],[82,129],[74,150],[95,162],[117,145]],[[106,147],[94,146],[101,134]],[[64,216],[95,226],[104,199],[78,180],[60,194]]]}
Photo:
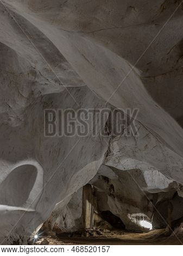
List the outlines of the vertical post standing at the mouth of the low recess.
{"label": "vertical post standing at the mouth of the low recess", "polygon": [[86,184],[83,187],[82,220],[83,220],[84,229],[92,228],[93,226],[93,195],[92,195],[92,186],[90,184]]}

